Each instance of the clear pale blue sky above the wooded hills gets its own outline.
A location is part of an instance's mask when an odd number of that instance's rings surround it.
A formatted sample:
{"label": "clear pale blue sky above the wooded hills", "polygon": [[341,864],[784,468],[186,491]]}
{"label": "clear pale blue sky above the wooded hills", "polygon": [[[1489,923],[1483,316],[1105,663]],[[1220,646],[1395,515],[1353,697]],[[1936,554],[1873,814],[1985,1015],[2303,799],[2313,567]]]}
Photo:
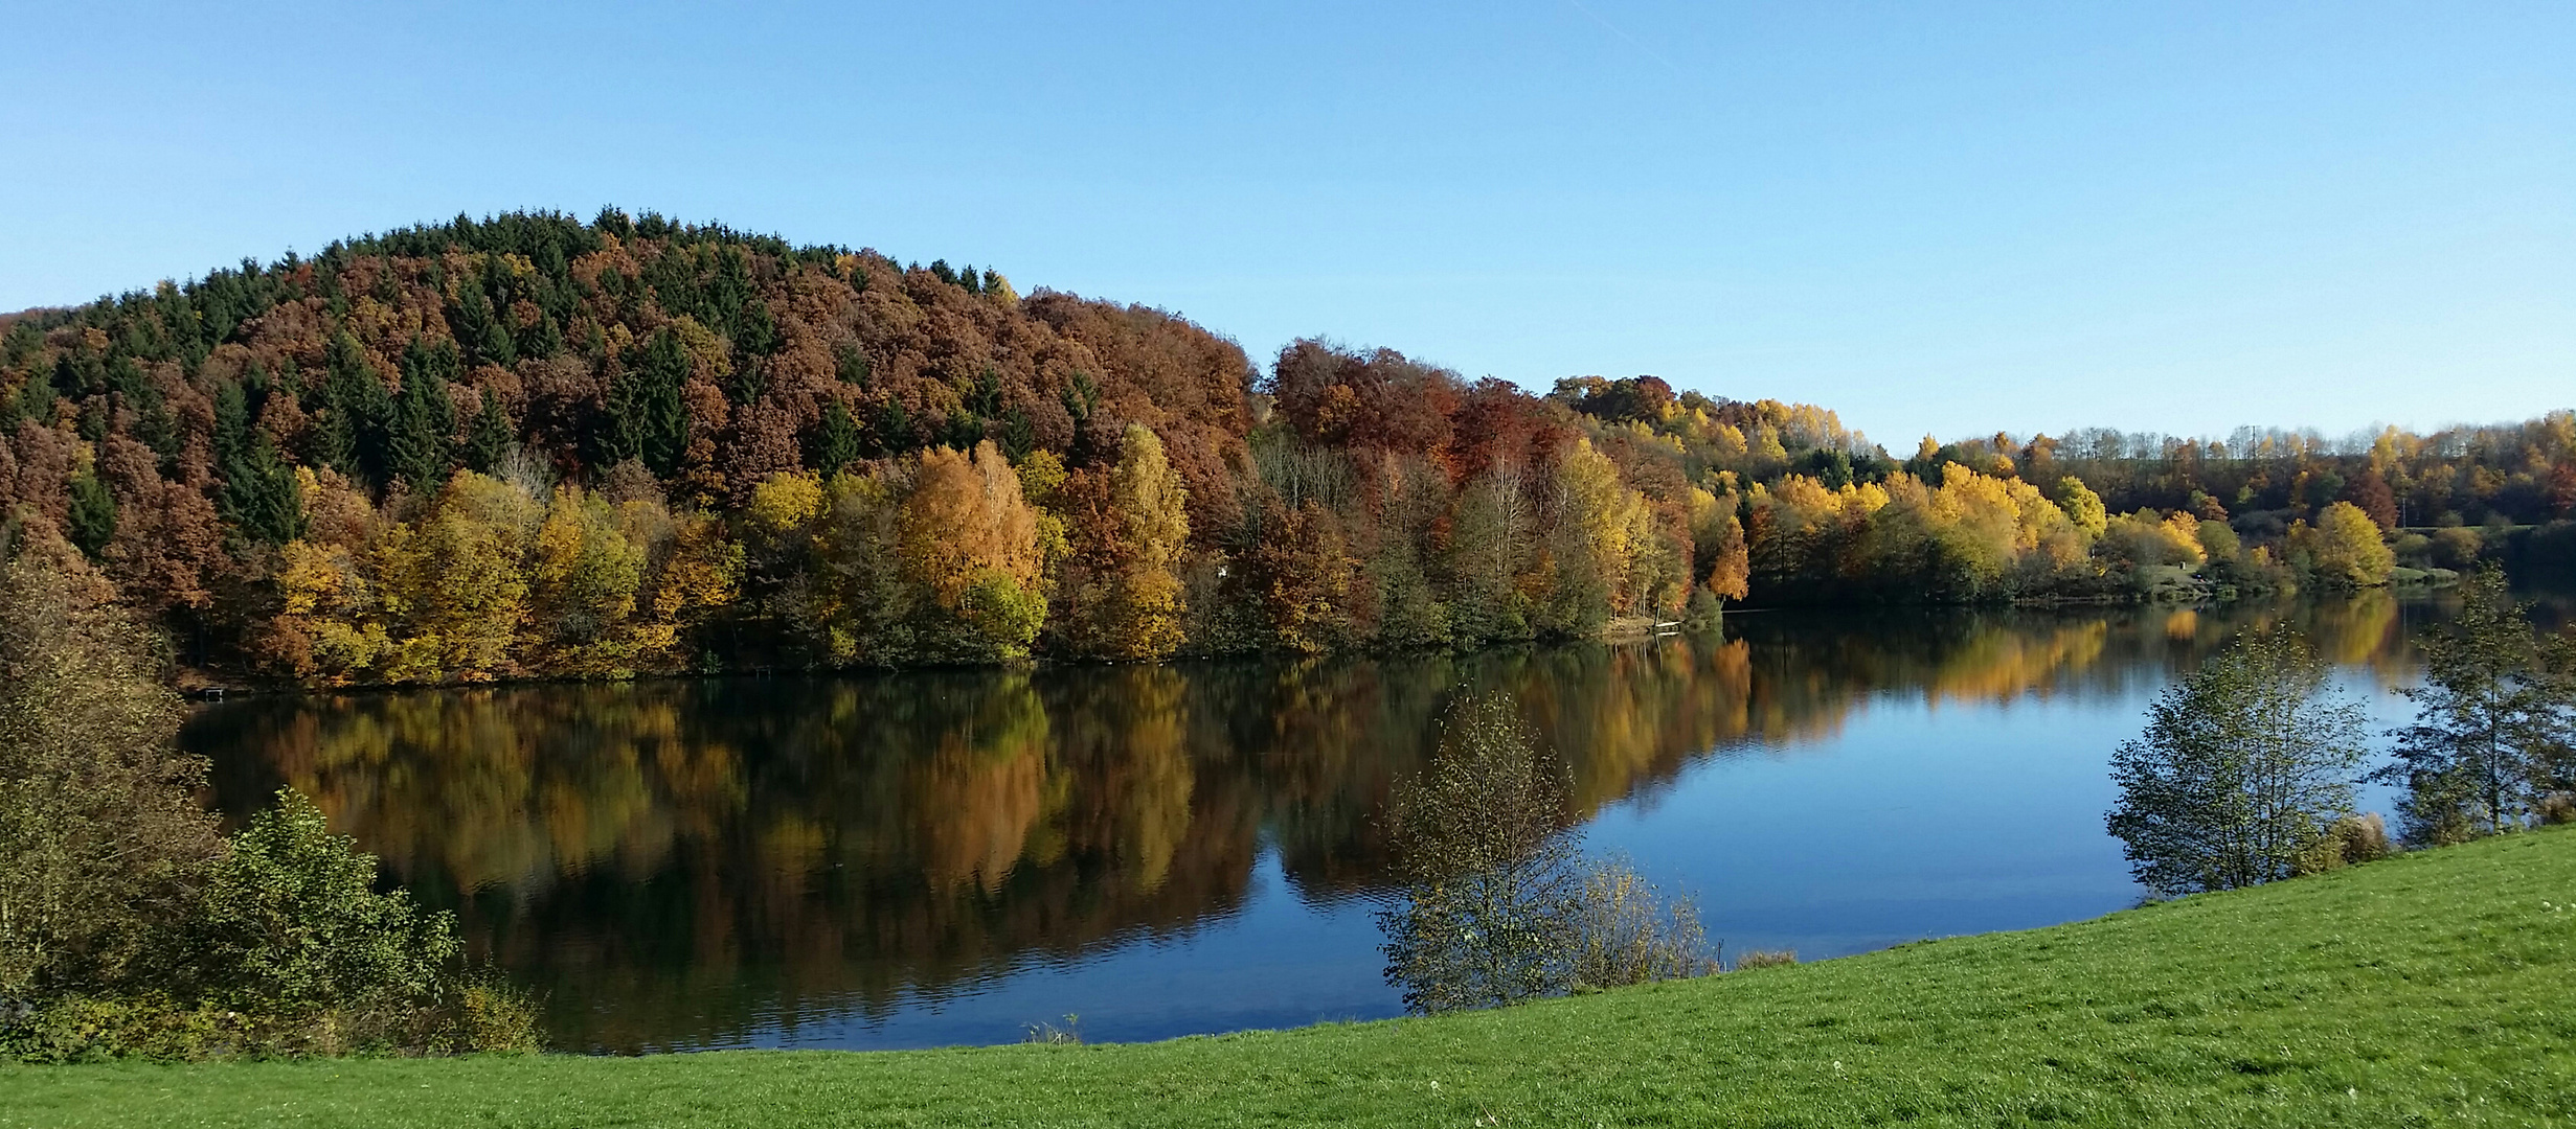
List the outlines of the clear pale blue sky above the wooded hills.
{"label": "clear pale blue sky above the wooded hills", "polygon": [[2576,5],[10,5],[0,309],[603,203],[1893,450],[2576,406]]}

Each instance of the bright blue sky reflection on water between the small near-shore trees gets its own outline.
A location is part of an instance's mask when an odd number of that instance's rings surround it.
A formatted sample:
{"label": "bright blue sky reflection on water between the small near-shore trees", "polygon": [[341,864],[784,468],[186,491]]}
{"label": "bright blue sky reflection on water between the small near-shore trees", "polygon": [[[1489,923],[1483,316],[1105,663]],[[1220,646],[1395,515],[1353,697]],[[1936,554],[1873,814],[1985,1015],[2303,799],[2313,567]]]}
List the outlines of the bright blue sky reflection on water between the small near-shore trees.
{"label": "bright blue sky reflection on water between the small near-shore trees", "polygon": [[2143,697],[1942,702],[1883,694],[1832,738],[1703,761],[1595,820],[1728,949],[1839,957],[2045,926],[2136,903],[2102,833],[2105,754]]}

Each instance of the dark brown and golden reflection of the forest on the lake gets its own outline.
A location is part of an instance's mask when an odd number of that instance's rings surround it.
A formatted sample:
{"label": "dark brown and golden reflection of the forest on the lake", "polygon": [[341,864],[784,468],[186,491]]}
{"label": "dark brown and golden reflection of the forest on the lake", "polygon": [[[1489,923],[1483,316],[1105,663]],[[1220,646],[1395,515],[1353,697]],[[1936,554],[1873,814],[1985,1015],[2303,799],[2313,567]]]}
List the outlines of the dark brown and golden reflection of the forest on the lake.
{"label": "dark brown and golden reflection of the forest on the lake", "polygon": [[1589,818],[1713,751],[1832,736],[1878,694],[2133,692],[2275,617],[2339,661],[2406,664],[2385,597],[1801,612],[1473,658],[234,702],[191,743],[232,808],[276,782],[322,800],[549,993],[564,1044],[698,1047],[1229,916],[1262,841],[1303,895],[1365,895],[1386,790],[1461,689],[1515,694]]}

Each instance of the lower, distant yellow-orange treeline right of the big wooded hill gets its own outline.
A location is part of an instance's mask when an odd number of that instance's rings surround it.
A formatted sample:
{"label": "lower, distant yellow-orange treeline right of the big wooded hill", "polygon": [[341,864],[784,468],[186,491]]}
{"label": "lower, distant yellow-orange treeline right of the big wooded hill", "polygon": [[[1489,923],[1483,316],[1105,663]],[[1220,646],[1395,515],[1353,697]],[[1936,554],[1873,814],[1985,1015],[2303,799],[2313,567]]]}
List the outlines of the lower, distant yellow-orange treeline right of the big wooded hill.
{"label": "lower, distant yellow-orange treeline right of the big wooded hill", "polygon": [[1620,465],[1662,450],[1736,517],[1754,599],[2128,599],[2378,586],[2481,558],[2576,574],[2576,411],[2329,442],[2074,432],[1924,437],[1906,460],[1832,414],[1558,381]]}

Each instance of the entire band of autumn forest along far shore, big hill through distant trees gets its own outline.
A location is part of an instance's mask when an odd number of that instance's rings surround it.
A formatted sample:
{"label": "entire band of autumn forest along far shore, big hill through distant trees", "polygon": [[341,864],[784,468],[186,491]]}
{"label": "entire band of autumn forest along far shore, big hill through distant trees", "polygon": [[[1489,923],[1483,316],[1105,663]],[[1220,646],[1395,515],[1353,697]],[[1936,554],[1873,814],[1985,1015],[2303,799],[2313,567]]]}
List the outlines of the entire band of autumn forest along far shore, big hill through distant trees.
{"label": "entire band of autumn forest along far shore, big hill through distant trees", "polygon": [[1832,411],[1654,378],[1265,363],[992,270],[459,216],[0,319],[0,553],[162,617],[193,666],[374,684],[2378,584],[2576,501],[2568,414],[1899,463]]}

